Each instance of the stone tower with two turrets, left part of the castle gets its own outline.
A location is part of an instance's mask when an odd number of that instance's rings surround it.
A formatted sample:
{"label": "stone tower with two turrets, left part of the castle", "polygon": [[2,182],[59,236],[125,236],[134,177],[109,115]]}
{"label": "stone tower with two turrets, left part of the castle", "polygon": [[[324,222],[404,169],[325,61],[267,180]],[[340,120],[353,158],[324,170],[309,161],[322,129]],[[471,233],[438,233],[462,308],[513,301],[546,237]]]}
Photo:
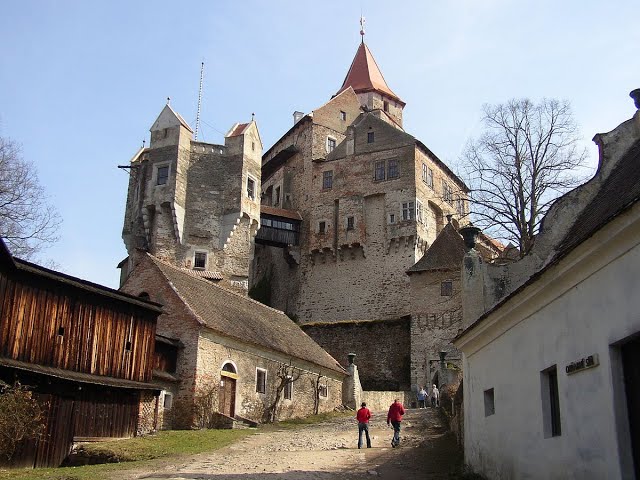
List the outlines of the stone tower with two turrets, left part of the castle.
{"label": "stone tower with two turrets, left part of the castle", "polygon": [[[224,145],[193,140],[169,103],[151,142],[131,159],[122,238],[175,266],[246,292],[260,219],[262,142],[254,121],[235,124]],[[128,265],[120,265],[122,277]]]}

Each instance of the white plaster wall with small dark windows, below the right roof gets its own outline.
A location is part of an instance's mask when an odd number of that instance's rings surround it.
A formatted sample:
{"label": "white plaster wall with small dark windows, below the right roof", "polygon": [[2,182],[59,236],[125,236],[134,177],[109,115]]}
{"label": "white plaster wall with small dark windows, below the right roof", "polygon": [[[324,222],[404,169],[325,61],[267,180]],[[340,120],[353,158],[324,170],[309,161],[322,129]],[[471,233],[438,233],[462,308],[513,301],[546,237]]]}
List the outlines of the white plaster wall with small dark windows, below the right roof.
{"label": "white plaster wall with small dark windows, below the right roof", "polygon": [[[465,353],[465,460],[474,470],[491,479],[633,478],[612,344],[640,332],[639,212],[636,205],[456,342]],[[592,354],[599,366],[565,373]],[[545,438],[541,371],[553,365],[562,433]],[[485,417],[489,388],[495,414]]]}

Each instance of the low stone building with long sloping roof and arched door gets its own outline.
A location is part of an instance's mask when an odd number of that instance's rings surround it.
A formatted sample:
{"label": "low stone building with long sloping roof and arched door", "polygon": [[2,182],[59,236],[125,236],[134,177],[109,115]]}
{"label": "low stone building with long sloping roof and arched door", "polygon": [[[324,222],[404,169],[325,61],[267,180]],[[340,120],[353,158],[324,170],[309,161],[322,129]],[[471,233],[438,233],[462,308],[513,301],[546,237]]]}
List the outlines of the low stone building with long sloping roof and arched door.
{"label": "low stone building with long sloping roof and arched door", "polygon": [[[121,290],[163,305],[154,381],[162,428],[331,411],[345,370],[282,312],[144,251]],[[157,342],[157,344],[160,342]],[[276,400],[276,398],[278,400]]]}

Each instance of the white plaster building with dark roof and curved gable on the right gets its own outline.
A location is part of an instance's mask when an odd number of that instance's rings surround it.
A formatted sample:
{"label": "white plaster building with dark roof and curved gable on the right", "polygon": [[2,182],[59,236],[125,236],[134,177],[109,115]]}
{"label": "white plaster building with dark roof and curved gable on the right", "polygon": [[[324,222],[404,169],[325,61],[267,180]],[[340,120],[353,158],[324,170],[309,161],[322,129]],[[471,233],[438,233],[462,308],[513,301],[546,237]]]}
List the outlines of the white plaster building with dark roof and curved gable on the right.
{"label": "white plaster building with dark roof and curved gable on the right", "polygon": [[464,257],[465,461],[491,479],[640,478],[640,112],[594,141],[530,254]]}

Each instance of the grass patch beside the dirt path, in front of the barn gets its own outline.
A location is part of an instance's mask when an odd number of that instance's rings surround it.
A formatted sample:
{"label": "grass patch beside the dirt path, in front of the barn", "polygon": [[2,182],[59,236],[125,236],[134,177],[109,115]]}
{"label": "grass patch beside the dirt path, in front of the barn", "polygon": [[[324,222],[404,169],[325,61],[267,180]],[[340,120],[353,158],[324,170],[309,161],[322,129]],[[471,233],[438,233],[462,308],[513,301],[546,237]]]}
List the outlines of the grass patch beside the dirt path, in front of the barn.
{"label": "grass patch beside the dirt path, in front of the barn", "polygon": [[120,462],[82,467],[0,470],[0,480],[109,480],[118,470],[143,466],[145,461],[210,452],[234,443],[255,430],[165,430],[155,435],[84,443],[92,454],[117,458]]}

